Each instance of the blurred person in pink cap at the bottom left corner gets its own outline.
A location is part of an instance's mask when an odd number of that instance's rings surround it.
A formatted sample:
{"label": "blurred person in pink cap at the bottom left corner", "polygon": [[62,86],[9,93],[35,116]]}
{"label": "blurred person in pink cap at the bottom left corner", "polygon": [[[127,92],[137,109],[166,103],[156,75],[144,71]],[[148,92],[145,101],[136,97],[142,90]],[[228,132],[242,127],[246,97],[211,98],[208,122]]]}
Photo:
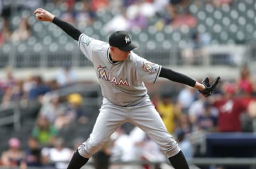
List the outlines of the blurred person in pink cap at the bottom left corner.
{"label": "blurred person in pink cap at the bottom left corner", "polygon": [[25,153],[20,149],[20,140],[18,138],[10,138],[8,145],[9,149],[4,151],[1,156],[2,165],[6,167],[25,166]]}

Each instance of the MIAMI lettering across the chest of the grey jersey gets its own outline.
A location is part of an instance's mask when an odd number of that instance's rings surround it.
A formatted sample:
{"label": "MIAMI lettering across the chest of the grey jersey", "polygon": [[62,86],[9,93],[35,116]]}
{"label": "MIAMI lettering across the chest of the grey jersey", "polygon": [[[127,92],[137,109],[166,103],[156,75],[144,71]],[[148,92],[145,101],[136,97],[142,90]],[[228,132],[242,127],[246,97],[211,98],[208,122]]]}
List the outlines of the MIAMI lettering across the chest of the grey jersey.
{"label": "MIAMI lettering across the chest of the grey jersey", "polygon": [[105,80],[105,81],[110,81],[111,83],[115,84],[115,85],[123,85],[123,86],[130,86],[129,82],[127,80],[123,80],[122,78],[118,79],[113,76],[110,79],[110,73],[107,73],[105,70],[106,66],[98,66],[98,73],[99,73],[99,78]]}

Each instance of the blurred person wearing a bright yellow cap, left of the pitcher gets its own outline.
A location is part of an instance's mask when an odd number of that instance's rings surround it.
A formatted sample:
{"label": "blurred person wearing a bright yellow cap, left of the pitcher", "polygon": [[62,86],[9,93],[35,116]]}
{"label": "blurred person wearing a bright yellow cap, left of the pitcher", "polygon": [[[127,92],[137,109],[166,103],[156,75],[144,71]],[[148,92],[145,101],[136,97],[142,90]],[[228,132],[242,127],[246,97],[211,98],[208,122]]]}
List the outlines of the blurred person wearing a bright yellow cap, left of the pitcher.
{"label": "blurred person wearing a bright yellow cap, left of the pitcher", "polygon": [[78,93],[73,93],[68,95],[68,108],[65,111],[62,111],[61,114],[58,114],[55,120],[55,127],[58,129],[63,127],[68,127],[74,122],[80,124],[85,124],[88,121],[88,118],[84,115],[81,105],[83,98]]}

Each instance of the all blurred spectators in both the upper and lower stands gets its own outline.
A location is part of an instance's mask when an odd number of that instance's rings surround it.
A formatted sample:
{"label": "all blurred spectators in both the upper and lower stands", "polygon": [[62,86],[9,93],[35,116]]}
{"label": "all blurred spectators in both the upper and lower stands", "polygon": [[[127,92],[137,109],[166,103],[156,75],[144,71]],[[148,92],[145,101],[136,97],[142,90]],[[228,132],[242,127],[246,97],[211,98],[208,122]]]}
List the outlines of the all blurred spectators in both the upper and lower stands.
{"label": "all blurred spectators in both the upper and lower stands", "polygon": [[[10,3],[0,0],[1,26],[0,46],[6,42],[23,41],[32,33],[28,18],[21,18],[19,26],[10,26],[13,10],[34,11],[47,3],[62,6],[60,18],[79,27],[92,25],[97,20],[98,12],[114,11],[111,20],[103,26],[106,32],[116,29],[147,28],[150,18],[157,16],[154,23],[161,30],[166,25],[179,29],[182,25],[195,27],[196,18],[189,13],[190,1],[169,0],[23,0]],[[77,3],[82,4],[77,7]],[[221,4],[232,4],[231,0],[193,1],[196,5],[211,3],[218,7]],[[47,10],[47,9],[46,9]],[[27,16],[28,17],[28,16]],[[118,24],[116,24],[118,23]],[[195,32],[191,35],[191,43],[182,51],[182,57],[188,64],[191,58],[204,55],[202,47],[209,44],[209,37]],[[191,56],[193,55],[193,56]],[[8,148],[1,152],[0,165],[3,166],[54,166],[65,168],[76,148],[86,138],[74,138],[72,145],[67,146],[65,138],[58,132],[73,123],[86,124],[90,119],[81,109],[83,97],[79,93],[71,93],[65,98],[53,95],[47,102],[44,95],[58,88],[76,84],[76,75],[69,65],[63,68],[53,80],[45,81],[40,75],[28,75],[25,79],[13,76],[13,70],[6,68],[6,77],[0,81],[2,107],[10,107],[13,102],[26,107],[31,102],[38,102],[41,108],[36,113],[35,126],[27,140],[27,147],[21,147],[21,140],[13,137],[8,141]],[[212,79],[211,79],[212,81]],[[167,130],[174,135],[186,158],[204,157],[204,135],[209,132],[255,132],[253,126],[256,116],[255,108],[255,77],[246,65],[241,68],[237,79],[222,79],[222,83],[214,94],[205,98],[198,91],[183,85],[173,85],[173,90],[150,93],[159,115]],[[161,88],[170,88],[162,85]],[[149,90],[150,92],[150,90]],[[227,123],[228,122],[228,123]],[[109,142],[93,157],[95,168],[108,168],[110,161],[122,160],[165,161],[165,156],[157,145],[140,130],[133,127],[127,132],[125,126],[111,135]],[[157,165],[159,164],[155,164]],[[143,165],[143,168],[149,168]],[[159,166],[158,166],[159,167]]]}

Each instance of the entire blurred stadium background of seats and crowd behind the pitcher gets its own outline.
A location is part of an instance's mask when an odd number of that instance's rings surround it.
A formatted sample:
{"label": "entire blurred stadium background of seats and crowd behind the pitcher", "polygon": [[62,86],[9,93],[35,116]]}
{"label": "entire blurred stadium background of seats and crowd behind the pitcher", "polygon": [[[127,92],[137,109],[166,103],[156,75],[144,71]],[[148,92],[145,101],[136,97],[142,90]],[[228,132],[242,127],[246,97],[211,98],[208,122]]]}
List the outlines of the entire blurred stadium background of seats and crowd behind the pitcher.
{"label": "entire blurred stadium background of seats and crowd behind the pitcher", "polygon": [[[230,91],[238,98],[246,92],[254,97],[254,0],[1,0],[1,168],[65,168],[89,136],[101,104],[91,63],[57,26],[36,21],[37,7],[102,41],[115,30],[127,30],[142,57],[198,81],[220,76],[212,100]],[[256,121],[246,110],[239,116],[241,130],[221,132],[211,99],[164,79],[146,85],[167,125],[173,124],[170,132],[191,168],[255,168]],[[169,168],[150,139],[133,127],[119,128],[90,166]],[[31,146],[35,142],[37,148]],[[14,159],[6,160],[10,156]]]}

